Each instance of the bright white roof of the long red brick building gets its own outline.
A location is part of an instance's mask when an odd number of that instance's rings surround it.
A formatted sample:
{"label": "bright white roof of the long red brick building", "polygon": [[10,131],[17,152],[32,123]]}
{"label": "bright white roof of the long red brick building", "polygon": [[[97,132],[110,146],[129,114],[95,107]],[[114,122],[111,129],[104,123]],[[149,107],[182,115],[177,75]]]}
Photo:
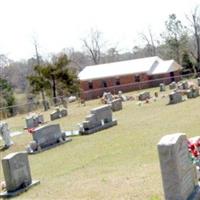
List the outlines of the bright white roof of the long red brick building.
{"label": "bright white roof of the long red brick building", "polygon": [[[127,74],[162,74],[173,70],[172,61],[164,61],[161,58],[148,57],[114,63],[86,66],[78,75],[80,80],[94,80],[99,78],[117,77]],[[174,62],[174,61],[173,61]],[[178,64],[177,64],[178,65]],[[178,65],[180,67],[180,65]],[[158,69],[159,68],[159,69]],[[180,69],[180,68],[179,68]]]}

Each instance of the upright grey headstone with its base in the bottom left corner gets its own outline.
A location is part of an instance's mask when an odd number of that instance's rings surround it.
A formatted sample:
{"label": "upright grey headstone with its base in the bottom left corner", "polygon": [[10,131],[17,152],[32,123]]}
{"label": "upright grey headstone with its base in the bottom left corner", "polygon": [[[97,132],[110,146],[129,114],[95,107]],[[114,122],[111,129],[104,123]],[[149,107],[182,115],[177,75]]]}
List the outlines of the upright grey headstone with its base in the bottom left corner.
{"label": "upright grey headstone with its base in the bottom left corner", "polygon": [[6,192],[0,197],[16,196],[39,181],[33,181],[26,152],[11,153],[2,159],[2,168],[6,182]]}

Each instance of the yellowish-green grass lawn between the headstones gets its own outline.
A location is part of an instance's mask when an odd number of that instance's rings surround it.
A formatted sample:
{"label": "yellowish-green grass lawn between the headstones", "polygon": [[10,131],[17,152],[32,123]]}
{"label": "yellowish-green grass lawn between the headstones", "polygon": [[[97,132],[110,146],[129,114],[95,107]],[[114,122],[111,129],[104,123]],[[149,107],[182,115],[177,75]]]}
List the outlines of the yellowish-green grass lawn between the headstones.
{"label": "yellowish-green grass lawn between the headstones", "polygon": [[[113,114],[117,126],[73,137],[70,143],[29,156],[32,178],[41,183],[16,199],[163,199],[158,141],[175,132],[187,133],[188,137],[200,134],[200,97],[176,105],[167,103],[168,97],[142,106],[136,101],[124,102],[123,110]],[[69,116],[53,123],[60,123],[62,129],[75,129],[89,110],[99,105],[99,100],[88,101],[85,107],[70,104]],[[49,112],[44,116],[49,120]],[[11,130],[21,130],[24,117],[6,121]],[[1,152],[1,157],[24,150],[31,135],[13,140],[15,145]]]}

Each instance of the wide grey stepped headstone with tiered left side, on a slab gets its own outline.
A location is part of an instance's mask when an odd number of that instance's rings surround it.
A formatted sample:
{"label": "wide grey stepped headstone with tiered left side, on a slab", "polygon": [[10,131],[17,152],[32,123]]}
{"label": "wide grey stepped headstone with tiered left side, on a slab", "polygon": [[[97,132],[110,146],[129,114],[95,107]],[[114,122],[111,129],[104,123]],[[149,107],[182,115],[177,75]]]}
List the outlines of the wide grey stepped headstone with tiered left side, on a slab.
{"label": "wide grey stepped headstone with tiered left side, on a slab", "polygon": [[79,125],[79,132],[82,135],[91,134],[114,125],[117,125],[117,120],[112,118],[111,106],[104,105],[90,111],[90,115]]}

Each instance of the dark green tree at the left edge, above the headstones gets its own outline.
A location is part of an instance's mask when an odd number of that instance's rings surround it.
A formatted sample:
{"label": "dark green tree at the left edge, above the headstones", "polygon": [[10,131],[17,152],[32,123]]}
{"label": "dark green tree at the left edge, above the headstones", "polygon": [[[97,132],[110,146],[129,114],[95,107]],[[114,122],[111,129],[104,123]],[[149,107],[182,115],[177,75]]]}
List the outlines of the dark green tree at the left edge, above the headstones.
{"label": "dark green tree at the left edge, above the headstones", "polygon": [[8,112],[13,115],[13,106],[15,103],[15,98],[13,94],[12,86],[7,80],[0,78],[0,107],[8,107]]}

